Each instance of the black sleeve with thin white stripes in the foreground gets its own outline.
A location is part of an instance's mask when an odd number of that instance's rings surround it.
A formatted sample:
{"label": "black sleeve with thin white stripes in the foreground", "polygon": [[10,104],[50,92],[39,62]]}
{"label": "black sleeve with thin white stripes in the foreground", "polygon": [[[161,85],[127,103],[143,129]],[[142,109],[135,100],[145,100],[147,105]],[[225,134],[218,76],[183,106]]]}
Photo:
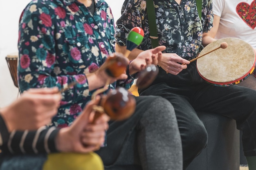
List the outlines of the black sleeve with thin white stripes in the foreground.
{"label": "black sleeve with thin white stripes in the foreground", "polygon": [[55,138],[59,129],[43,126],[35,131],[13,131],[9,140],[1,147],[3,152],[11,154],[58,152]]}

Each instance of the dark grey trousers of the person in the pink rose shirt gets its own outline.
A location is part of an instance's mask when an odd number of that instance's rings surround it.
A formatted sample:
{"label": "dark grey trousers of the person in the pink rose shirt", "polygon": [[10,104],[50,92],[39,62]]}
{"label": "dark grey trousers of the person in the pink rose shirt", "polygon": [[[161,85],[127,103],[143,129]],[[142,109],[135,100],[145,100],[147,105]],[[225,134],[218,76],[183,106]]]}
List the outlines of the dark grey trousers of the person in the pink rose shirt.
{"label": "dark grey trousers of the person in the pink rose shirt", "polygon": [[135,113],[112,121],[107,146],[96,151],[105,170],[182,170],[182,143],[174,108],[159,96],[135,97]]}

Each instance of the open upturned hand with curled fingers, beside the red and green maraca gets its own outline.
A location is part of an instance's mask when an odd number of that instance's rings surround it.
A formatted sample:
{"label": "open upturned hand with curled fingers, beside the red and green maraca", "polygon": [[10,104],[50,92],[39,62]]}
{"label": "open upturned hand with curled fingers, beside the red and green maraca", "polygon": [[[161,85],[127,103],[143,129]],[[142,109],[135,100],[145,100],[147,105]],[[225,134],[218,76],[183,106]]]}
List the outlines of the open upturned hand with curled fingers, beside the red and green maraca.
{"label": "open upturned hand with curled fingers, beside the red and green maraca", "polygon": [[133,75],[141,70],[144,70],[147,65],[155,64],[161,60],[162,58],[162,51],[166,49],[165,46],[157,46],[154,49],[146,50],[132,60],[129,65],[129,72],[130,75]]}

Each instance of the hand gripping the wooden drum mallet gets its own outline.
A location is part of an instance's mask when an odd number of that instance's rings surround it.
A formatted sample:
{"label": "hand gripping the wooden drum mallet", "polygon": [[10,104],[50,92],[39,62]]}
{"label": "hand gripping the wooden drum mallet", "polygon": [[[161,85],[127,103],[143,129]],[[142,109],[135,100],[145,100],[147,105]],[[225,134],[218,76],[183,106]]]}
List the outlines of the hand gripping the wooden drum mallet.
{"label": "hand gripping the wooden drum mallet", "polygon": [[[180,63],[185,63],[184,65]],[[190,62],[176,53],[163,53],[162,60],[158,62],[158,65],[161,66],[166,73],[171,73],[173,75],[179,74],[183,69],[187,68],[186,64]]]}

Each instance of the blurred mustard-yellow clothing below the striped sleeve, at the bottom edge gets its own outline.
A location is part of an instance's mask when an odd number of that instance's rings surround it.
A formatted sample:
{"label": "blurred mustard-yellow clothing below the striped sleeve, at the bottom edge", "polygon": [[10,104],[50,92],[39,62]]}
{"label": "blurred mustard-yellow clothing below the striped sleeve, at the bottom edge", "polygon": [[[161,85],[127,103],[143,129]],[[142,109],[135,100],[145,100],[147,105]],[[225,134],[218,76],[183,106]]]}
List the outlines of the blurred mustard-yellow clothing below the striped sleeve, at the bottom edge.
{"label": "blurred mustard-yellow clothing below the striped sleeve, at the bottom edge", "polygon": [[49,154],[43,170],[104,170],[103,162],[94,152]]}

